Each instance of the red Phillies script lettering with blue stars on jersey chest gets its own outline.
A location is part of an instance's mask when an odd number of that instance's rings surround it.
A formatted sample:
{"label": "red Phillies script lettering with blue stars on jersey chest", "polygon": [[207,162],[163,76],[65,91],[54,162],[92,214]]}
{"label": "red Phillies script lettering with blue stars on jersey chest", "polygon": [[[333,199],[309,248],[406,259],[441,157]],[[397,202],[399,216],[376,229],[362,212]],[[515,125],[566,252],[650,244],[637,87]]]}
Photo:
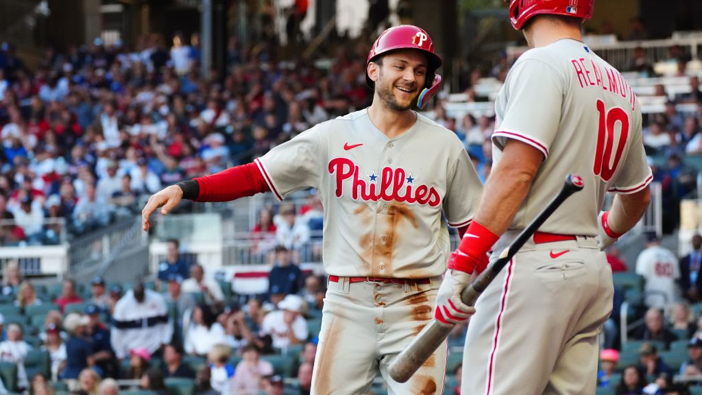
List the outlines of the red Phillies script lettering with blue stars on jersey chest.
{"label": "red Phillies script lettering with blue stars on jersey chest", "polygon": [[[336,197],[343,196],[345,184],[350,184],[353,200],[395,200],[431,207],[437,207],[441,203],[441,196],[433,186],[415,185],[415,179],[402,167],[383,167],[378,175],[373,172],[369,176],[359,176],[359,167],[354,161],[346,157],[335,157],[329,161],[329,174],[333,174],[336,179]],[[366,181],[366,177],[369,181]]]}

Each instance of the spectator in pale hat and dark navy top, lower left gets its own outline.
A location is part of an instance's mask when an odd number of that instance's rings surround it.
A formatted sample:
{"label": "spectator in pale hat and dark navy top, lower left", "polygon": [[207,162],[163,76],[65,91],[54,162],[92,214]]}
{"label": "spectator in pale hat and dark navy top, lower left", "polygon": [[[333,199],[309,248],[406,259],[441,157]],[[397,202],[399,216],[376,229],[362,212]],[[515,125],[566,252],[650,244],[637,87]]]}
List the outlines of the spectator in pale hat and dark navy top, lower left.
{"label": "spectator in pale hat and dark navy top, lower left", "polygon": [[90,318],[79,313],[69,313],[63,320],[63,328],[69,337],[66,341],[66,368],[60,375],[61,379],[77,379],[81,370],[88,366],[88,358],[93,355],[93,340],[87,333],[88,324]]}

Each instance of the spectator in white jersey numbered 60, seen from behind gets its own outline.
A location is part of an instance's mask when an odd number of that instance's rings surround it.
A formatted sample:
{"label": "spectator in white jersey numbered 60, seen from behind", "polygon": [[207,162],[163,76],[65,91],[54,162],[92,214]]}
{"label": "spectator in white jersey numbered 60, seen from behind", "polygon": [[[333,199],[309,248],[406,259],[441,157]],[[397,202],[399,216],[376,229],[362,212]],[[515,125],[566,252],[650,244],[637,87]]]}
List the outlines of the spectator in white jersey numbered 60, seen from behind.
{"label": "spectator in white jersey numbered 60, seen from behind", "polygon": [[677,258],[655,234],[649,234],[646,249],[636,259],[636,273],[644,278],[646,306],[667,309],[673,303],[675,280],[680,278]]}

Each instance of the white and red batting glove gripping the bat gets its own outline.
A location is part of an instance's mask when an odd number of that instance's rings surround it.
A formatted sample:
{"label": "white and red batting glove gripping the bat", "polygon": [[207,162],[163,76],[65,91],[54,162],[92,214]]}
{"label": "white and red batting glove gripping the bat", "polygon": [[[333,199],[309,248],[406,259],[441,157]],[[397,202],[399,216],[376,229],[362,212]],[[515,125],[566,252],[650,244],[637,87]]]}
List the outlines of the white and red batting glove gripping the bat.
{"label": "white and red batting glove gripping the bat", "polygon": [[434,318],[446,326],[453,326],[467,320],[475,308],[461,300],[461,292],[470,284],[470,273],[458,269],[446,271],[444,281],[437,294],[437,306]]}

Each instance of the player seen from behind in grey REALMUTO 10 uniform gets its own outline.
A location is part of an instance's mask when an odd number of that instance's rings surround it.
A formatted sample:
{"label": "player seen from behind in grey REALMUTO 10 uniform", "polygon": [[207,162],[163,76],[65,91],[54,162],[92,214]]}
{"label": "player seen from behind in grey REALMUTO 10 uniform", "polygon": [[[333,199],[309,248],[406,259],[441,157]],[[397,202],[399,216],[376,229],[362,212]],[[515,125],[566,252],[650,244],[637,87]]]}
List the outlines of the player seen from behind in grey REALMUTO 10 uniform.
{"label": "player seen from behind in grey REALMUTO 10 uniform", "polygon": [[[609,316],[611,269],[601,252],[649,203],[641,112],[621,74],[583,44],[593,0],[512,0],[529,51],[496,98],[494,167],[475,220],[452,254],[435,314],[470,316],[469,273],[548,205],[567,174],[585,188],[566,200],[477,299],[463,355],[462,394],[595,394],[597,335]],[[607,191],[617,193],[600,212]]]}

